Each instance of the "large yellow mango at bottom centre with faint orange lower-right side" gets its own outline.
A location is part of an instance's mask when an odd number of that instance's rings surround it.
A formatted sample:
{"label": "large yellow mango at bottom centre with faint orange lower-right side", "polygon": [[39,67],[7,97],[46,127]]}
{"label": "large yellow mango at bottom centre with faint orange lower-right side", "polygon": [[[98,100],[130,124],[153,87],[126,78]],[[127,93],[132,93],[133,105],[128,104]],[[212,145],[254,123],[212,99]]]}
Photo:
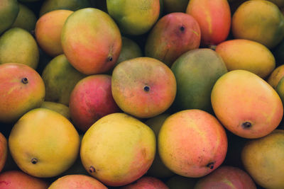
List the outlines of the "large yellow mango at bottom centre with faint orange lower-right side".
{"label": "large yellow mango at bottom centre with faint orange lower-right side", "polygon": [[84,168],[102,183],[127,185],[151,166],[155,143],[153,130],[143,122],[125,113],[113,113],[89,127],[80,156]]}

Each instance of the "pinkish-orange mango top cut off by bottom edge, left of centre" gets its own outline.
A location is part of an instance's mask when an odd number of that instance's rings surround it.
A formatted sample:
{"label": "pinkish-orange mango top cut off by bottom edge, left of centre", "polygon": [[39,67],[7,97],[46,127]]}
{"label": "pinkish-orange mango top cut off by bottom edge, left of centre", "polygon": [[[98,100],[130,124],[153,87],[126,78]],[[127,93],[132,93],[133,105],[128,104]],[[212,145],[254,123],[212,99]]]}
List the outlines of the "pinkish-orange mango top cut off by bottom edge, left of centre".
{"label": "pinkish-orange mango top cut off by bottom edge, left of centre", "polygon": [[92,178],[91,176],[84,176],[79,174],[62,176],[53,183],[51,183],[51,185],[48,187],[48,189],[60,189],[60,188],[107,189],[107,187],[101,182],[97,181],[97,179]]}

